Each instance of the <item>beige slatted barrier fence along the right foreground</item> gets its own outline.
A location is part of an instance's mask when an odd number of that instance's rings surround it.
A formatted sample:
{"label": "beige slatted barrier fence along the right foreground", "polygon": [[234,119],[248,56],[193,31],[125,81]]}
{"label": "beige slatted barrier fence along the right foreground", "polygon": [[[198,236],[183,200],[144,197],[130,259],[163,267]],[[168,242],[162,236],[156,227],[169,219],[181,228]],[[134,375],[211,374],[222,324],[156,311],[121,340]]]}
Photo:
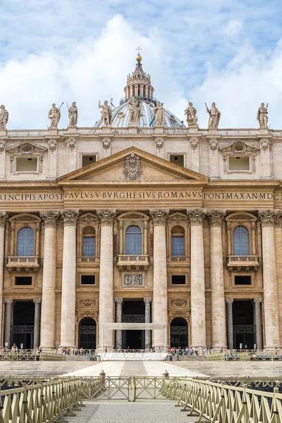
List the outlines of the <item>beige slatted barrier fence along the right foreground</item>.
{"label": "beige slatted barrier fence along the right foreground", "polygon": [[255,391],[244,386],[227,386],[210,381],[183,378],[166,380],[161,394],[177,400],[176,407],[199,415],[197,422],[217,423],[281,423],[282,394]]}

